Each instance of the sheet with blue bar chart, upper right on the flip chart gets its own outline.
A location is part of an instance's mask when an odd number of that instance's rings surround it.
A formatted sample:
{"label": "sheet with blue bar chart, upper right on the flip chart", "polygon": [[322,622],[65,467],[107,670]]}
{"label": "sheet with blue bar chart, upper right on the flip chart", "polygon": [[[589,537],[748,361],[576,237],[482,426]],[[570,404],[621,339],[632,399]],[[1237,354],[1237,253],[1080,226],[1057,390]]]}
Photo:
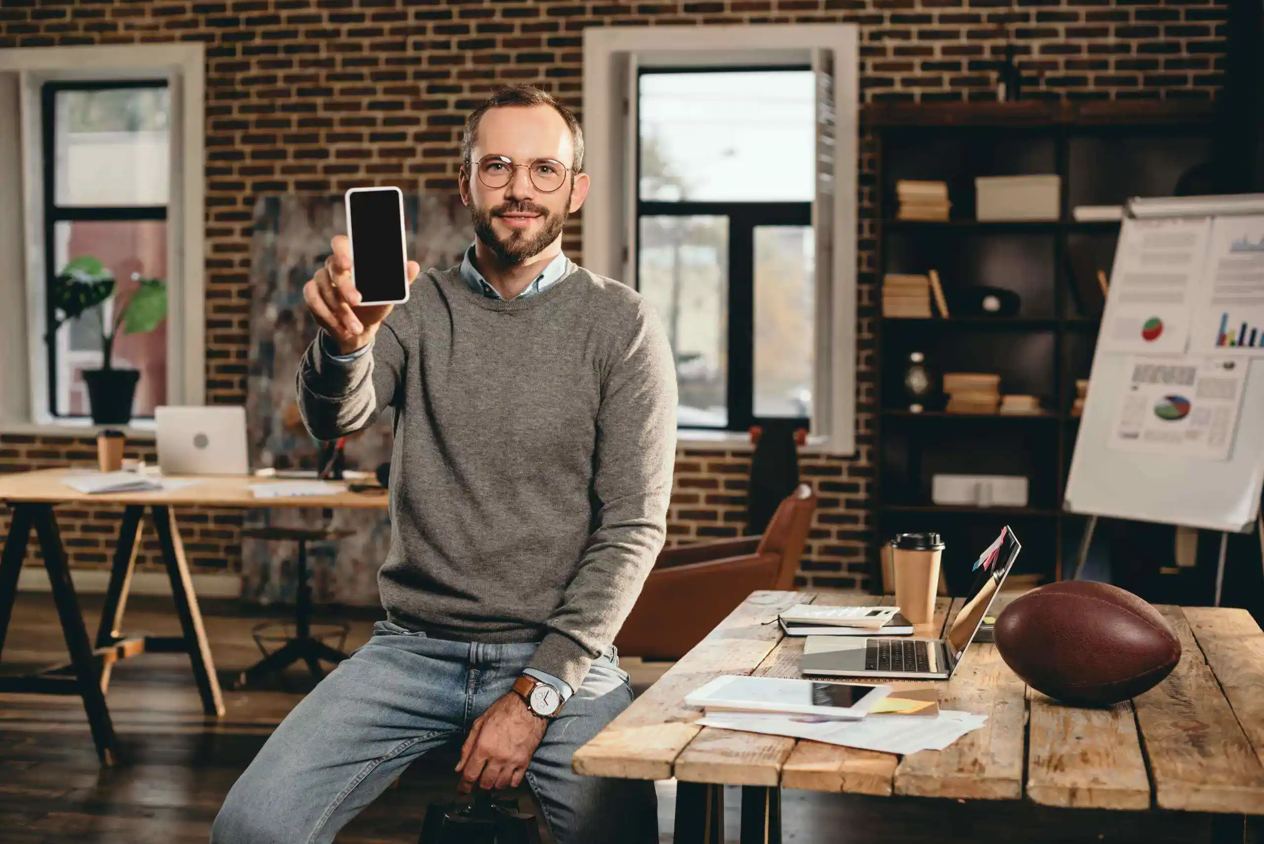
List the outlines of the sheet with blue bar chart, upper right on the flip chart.
{"label": "sheet with blue bar chart, upper right on the flip chart", "polygon": [[1217,217],[1192,351],[1264,356],[1264,216]]}

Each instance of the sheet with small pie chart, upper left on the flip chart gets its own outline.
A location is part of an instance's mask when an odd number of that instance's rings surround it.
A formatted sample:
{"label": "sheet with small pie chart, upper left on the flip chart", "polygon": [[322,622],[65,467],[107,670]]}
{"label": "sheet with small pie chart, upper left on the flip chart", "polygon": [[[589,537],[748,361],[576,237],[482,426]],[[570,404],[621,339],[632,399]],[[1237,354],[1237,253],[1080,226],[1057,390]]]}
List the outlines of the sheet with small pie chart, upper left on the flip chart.
{"label": "sheet with small pie chart, upper left on the flip chart", "polygon": [[1186,350],[1210,230],[1207,217],[1124,221],[1097,339],[1100,349]]}

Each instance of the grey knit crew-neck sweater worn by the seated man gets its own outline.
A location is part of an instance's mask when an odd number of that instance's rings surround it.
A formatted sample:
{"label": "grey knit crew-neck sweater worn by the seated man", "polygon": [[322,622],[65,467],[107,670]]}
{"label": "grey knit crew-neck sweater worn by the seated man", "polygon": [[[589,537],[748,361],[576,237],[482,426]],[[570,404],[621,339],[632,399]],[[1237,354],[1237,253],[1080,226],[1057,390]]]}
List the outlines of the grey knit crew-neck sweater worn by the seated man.
{"label": "grey knit crew-neck sweater worn by the seated man", "polygon": [[651,306],[585,269],[509,301],[428,270],[369,354],[324,341],[298,369],[313,437],[394,408],[388,618],[540,642],[527,667],[579,689],[666,536],[676,378]]}

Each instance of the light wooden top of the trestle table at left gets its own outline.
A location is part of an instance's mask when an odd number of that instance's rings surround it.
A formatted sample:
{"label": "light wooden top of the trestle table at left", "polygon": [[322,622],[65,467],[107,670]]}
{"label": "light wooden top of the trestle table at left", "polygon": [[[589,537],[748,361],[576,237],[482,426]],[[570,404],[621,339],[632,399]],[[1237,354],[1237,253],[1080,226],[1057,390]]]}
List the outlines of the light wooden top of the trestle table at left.
{"label": "light wooden top of the trestle table at left", "polygon": [[[354,509],[387,509],[389,497],[383,493],[340,491],[331,495],[295,495],[291,498],[255,498],[250,484],[279,484],[283,480],[253,475],[171,475],[172,479],[197,483],[181,489],[154,493],[81,493],[62,480],[71,469],[40,469],[0,475],[0,500],[10,503],[39,502],[51,504],[169,504],[198,507],[330,507]],[[343,481],[329,481],[344,488]]]}

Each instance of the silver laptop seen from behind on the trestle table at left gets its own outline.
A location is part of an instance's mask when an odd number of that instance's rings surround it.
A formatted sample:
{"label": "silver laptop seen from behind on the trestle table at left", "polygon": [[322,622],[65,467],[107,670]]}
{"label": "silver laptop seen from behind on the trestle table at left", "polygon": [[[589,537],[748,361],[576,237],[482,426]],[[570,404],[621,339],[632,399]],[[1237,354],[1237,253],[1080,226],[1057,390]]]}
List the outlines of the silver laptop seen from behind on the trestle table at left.
{"label": "silver laptop seen from behind on the trestle table at left", "polygon": [[244,407],[155,407],[154,421],[162,474],[248,474]]}

